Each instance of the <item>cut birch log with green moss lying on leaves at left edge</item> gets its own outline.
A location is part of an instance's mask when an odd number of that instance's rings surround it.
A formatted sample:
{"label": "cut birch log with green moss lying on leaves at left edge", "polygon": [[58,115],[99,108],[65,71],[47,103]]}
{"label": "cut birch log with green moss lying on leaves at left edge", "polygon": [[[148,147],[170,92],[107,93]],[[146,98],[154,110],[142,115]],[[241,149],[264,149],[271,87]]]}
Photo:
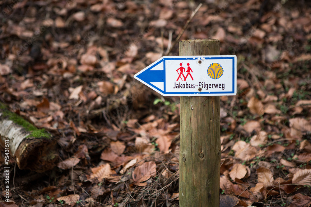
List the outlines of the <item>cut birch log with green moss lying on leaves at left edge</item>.
{"label": "cut birch log with green moss lying on leaves at left edge", "polygon": [[[0,102],[0,147],[4,156],[9,143],[10,157],[20,169],[44,172],[54,167],[58,159],[56,142],[45,129],[38,129]],[[7,151],[6,151],[7,152]]]}

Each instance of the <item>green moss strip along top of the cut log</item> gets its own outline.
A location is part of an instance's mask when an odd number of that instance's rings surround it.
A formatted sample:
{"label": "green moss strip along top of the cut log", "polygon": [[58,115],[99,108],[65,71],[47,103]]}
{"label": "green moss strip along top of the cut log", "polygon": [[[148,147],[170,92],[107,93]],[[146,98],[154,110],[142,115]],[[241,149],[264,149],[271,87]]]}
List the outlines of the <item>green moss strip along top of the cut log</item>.
{"label": "green moss strip along top of the cut log", "polygon": [[33,124],[30,124],[28,121],[23,119],[20,115],[17,115],[10,110],[8,110],[7,106],[0,102],[0,110],[2,111],[2,115],[12,120],[15,124],[22,126],[27,132],[30,133],[27,137],[35,137],[35,138],[50,138],[51,135],[45,129],[38,129]]}

